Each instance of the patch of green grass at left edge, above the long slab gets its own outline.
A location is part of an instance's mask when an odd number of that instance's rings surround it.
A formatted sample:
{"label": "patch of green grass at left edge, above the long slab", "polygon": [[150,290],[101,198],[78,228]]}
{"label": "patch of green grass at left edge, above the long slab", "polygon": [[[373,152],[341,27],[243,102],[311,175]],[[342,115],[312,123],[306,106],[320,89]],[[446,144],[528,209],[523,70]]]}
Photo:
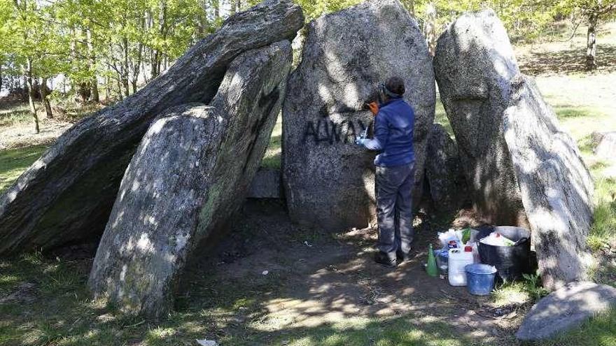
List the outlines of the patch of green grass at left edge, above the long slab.
{"label": "patch of green grass at left edge, above the long slab", "polygon": [[0,151],[0,194],[47,149],[42,145]]}

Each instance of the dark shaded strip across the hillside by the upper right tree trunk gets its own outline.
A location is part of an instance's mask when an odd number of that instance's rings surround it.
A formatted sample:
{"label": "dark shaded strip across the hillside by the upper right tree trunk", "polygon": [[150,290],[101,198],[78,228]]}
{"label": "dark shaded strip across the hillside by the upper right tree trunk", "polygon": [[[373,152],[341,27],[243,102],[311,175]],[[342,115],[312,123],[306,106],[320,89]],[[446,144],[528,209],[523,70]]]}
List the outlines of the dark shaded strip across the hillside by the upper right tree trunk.
{"label": "dark shaded strip across the hillside by the upper right tree trunk", "polygon": [[[599,43],[596,61],[599,72],[616,71],[616,45]],[[585,64],[585,49],[531,52],[520,59],[520,70],[528,75],[585,72]]]}

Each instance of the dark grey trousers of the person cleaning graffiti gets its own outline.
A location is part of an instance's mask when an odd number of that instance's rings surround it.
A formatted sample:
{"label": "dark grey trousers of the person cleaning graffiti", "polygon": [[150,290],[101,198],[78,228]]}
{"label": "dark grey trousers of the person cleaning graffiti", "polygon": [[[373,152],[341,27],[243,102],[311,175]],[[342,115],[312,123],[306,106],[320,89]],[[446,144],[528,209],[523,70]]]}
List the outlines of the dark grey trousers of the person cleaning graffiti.
{"label": "dark grey trousers of the person cleaning graffiti", "polygon": [[377,166],[377,221],[381,252],[395,259],[395,253],[406,254],[413,241],[412,189],[415,176],[413,164],[397,167]]}

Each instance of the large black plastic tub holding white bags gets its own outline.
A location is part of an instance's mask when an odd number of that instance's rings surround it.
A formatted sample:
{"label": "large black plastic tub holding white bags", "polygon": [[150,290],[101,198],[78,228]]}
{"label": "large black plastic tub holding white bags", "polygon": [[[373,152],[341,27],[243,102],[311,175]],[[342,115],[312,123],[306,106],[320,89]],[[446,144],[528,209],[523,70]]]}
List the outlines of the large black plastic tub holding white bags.
{"label": "large black plastic tub holding white bags", "polygon": [[[512,240],[512,246],[494,246],[481,242],[491,232],[498,232]],[[498,276],[505,281],[519,280],[530,273],[531,232],[521,227],[500,226],[479,231],[479,257],[482,263],[495,266]]]}

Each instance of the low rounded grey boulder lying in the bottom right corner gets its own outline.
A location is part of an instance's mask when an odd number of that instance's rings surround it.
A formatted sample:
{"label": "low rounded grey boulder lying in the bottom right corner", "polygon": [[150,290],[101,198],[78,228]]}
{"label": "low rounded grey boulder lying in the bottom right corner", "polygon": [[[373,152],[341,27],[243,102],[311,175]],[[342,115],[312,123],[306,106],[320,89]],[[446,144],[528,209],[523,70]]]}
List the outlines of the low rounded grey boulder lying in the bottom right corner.
{"label": "low rounded grey boulder lying in the bottom right corner", "polygon": [[552,338],[614,306],[614,287],[571,282],[538,301],[524,317],[515,336],[524,341]]}

